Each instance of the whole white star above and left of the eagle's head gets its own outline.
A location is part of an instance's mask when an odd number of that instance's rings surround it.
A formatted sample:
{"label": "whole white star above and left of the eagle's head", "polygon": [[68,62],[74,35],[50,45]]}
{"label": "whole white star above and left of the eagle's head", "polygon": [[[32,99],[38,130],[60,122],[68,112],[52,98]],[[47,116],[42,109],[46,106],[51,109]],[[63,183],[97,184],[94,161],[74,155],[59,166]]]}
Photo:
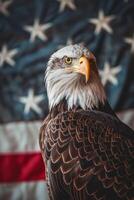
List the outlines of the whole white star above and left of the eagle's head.
{"label": "whole white star above and left of the eagle's head", "polygon": [[47,36],[44,33],[48,28],[52,26],[51,23],[46,24],[39,24],[39,20],[35,19],[33,26],[24,26],[24,29],[28,32],[30,32],[30,41],[33,42],[36,37],[40,38],[43,41],[47,40]]}

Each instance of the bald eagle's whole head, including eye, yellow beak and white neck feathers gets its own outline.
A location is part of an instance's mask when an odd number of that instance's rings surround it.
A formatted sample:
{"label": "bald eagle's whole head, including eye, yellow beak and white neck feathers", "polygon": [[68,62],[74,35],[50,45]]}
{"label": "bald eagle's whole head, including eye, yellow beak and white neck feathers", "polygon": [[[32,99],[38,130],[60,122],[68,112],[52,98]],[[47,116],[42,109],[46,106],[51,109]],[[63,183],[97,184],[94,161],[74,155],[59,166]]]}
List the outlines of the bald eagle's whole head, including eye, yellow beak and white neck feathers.
{"label": "bald eagle's whole head, including eye, yellow beak and white neck feathers", "polygon": [[63,99],[68,109],[93,109],[105,103],[95,56],[83,45],[56,51],[48,61],[45,81],[50,110]]}

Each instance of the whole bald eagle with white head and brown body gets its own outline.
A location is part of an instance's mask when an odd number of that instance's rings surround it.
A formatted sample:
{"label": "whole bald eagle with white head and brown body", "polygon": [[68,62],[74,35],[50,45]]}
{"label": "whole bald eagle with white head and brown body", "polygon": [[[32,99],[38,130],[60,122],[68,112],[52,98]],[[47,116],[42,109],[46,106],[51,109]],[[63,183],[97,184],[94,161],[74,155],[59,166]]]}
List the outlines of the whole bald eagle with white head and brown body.
{"label": "whole bald eagle with white head and brown body", "polygon": [[94,55],[70,45],[49,59],[40,129],[51,200],[134,200],[134,132],[110,107]]}

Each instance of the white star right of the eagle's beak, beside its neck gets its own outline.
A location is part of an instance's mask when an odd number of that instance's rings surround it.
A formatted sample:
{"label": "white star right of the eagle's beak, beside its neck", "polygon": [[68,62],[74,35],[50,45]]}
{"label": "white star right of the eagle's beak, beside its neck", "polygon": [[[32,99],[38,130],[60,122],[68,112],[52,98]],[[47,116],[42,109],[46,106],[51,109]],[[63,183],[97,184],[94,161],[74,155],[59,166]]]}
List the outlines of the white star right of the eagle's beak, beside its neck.
{"label": "white star right of the eagle's beak, beside its neck", "polygon": [[116,78],[116,75],[121,71],[120,66],[116,66],[114,68],[110,68],[110,65],[108,62],[104,64],[104,69],[99,70],[101,81],[103,85],[106,85],[106,83],[109,81],[113,85],[118,84],[118,80]]}

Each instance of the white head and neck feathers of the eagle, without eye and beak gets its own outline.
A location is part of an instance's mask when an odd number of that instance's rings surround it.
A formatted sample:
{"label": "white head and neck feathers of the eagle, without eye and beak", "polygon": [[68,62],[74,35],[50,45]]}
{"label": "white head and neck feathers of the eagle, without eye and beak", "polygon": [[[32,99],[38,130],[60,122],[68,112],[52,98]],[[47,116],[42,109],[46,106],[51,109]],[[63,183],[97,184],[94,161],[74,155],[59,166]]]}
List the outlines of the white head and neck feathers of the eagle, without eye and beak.
{"label": "white head and neck feathers of the eagle, without eye and beak", "polygon": [[[81,45],[71,45],[54,53],[46,70],[46,87],[49,108],[66,99],[68,109],[80,106],[82,109],[93,109],[105,102],[106,95],[99,76],[92,72],[89,83],[85,83],[78,73],[67,73],[62,65],[62,58],[68,56],[79,59],[82,55],[89,57],[90,52]],[[58,59],[58,61],[56,61]],[[56,66],[56,67],[55,67]]]}

